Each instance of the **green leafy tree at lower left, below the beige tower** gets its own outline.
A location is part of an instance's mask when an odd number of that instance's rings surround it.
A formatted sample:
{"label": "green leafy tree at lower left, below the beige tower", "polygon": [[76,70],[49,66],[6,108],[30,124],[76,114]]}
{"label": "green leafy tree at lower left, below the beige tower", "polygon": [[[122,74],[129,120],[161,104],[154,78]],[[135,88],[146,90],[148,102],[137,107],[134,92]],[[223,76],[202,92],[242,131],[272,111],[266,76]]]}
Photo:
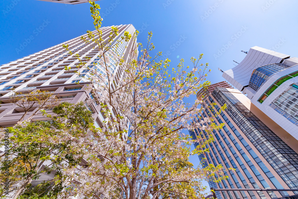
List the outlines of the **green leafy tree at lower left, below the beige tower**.
{"label": "green leafy tree at lower left, below the beige tower", "polygon": [[[72,140],[56,142],[64,134],[84,136],[93,124],[92,113],[83,102],[70,104],[64,102],[53,109],[53,115],[43,111],[47,121],[24,122],[9,127],[10,140],[9,167],[10,193],[13,198],[55,198],[63,190],[63,169],[68,166],[80,166],[81,151],[69,150]],[[4,142],[3,142],[4,143]],[[4,156],[3,156],[4,157]],[[7,178],[5,166],[1,163],[0,179]],[[32,180],[38,180],[42,174],[55,177],[32,188]],[[5,197],[5,190],[1,190]]]}

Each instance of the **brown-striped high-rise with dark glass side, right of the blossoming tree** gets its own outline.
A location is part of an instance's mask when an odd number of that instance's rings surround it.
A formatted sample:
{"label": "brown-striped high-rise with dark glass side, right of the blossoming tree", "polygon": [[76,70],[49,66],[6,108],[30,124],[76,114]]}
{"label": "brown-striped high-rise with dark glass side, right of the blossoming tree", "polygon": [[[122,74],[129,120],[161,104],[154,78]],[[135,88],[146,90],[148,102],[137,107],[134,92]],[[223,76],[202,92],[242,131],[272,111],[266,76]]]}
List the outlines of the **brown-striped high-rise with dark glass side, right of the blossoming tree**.
{"label": "brown-striped high-rise with dark glass side, right of the blossoming tree", "polygon": [[[214,118],[214,123],[224,123],[223,129],[211,132],[214,141],[205,148],[210,150],[199,155],[203,167],[208,164],[223,165],[235,171],[226,171],[229,179],[209,186],[215,189],[297,189],[298,154],[281,138],[269,129],[250,111],[249,98],[239,90],[232,89],[226,82],[212,84],[201,89],[197,96],[205,97],[201,104],[203,112],[193,118],[193,123]],[[211,104],[217,105],[212,108]],[[218,110],[226,104],[221,114]],[[210,125],[204,124],[204,125]],[[190,131],[193,139],[210,136],[205,130],[196,128]],[[198,146],[198,143],[195,143]],[[216,191],[219,199],[265,199],[298,198],[298,192],[260,191]]]}

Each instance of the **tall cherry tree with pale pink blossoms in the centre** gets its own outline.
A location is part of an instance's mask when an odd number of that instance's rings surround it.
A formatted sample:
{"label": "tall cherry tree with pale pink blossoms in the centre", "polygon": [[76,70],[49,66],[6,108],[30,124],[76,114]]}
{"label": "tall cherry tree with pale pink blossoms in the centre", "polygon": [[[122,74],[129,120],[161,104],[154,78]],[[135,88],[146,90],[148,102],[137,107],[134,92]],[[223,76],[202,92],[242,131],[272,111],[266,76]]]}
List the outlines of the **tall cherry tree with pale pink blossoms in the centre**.
{"label": "tall cherry tree with pale pink blossoms in the centre", "polygon": [[[200,124],[189,123],[202,110],[198,107],[203,97],[193,104],[184,101],[209,84],[204,82],[210,72],[208,64],[199,64],[203,54],[198,59],[191,58],[192,67],[184,66],[181,59],[178,66],[169,71],[169,59],[156,62],[161,52],[150,56],[154,45],[150,42],[152,33],[149,33],[145,47],[133,45],[141,49],[141,56],[137,58],[137,48],[134,48],[125,60],[117,54],[118,44],[130,39],[136,42],[138,32],[133,35],[125,32],[121,39],[113,42],[118,29],[112,27],[109,38],[103,38],[100,7],[94,2],[90,4],[96,31],[87,31],[88,36],[82,36],[81,40],[100,52],[97,67],[103,74],[73,54],[68,45],[64,47],[80,61],[81,70],[90,70],[85,78],[91,82],[94,100],[103,109],[103,125],[107,128],[93,128],[84,137],[75,138],[80,144],[71,146],[72,150],[86,149],[83,152],[86,165],[69,166],[64,170],[64,186],[68,188],[60,197],[202,198],[203,179],[214,178],[215,174],[219,178],[214,180],[225,178],[221,165],[202,169],[189,162],[190,155],[206,151],[204,144],[211,142],[212,136],[195,140],[199,146],[190,151],[193,141],[183,133],[185,129],[196,127],[206,132],[221,128],[206,125],[212,123],[212,118]],[[115,66],[121,68],[121,77],[111,70]],[[66,70],[69,69],[66,67]],[[66,135],[59,139],[74,138]]]}

